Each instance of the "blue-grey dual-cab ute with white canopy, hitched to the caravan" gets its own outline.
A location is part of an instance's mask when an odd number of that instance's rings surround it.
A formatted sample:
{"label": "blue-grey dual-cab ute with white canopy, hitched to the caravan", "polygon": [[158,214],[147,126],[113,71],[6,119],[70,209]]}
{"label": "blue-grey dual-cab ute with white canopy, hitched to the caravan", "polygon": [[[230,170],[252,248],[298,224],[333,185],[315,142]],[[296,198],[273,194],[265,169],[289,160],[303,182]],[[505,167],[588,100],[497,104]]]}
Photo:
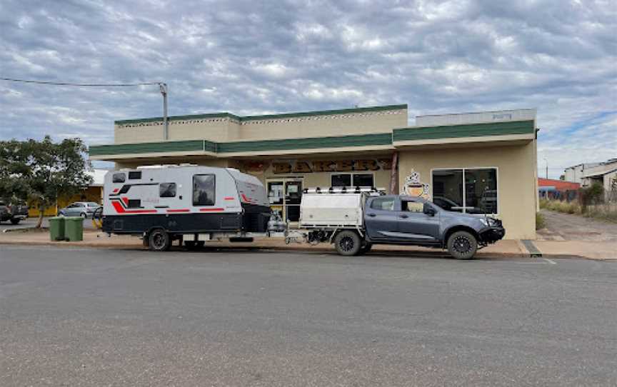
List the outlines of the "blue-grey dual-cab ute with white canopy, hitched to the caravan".
{"label": "blue-grey dual-cab ute with white canopy, hitched to the caravan", "polygon": [[423,198],[383,195],[374,190],[306,190],[300,228],[308,243],[330,242],[343,256],[366,253],[373,244],[446,248],[471,259],[478,248],[503,238],[501,221],[446,211]]}

